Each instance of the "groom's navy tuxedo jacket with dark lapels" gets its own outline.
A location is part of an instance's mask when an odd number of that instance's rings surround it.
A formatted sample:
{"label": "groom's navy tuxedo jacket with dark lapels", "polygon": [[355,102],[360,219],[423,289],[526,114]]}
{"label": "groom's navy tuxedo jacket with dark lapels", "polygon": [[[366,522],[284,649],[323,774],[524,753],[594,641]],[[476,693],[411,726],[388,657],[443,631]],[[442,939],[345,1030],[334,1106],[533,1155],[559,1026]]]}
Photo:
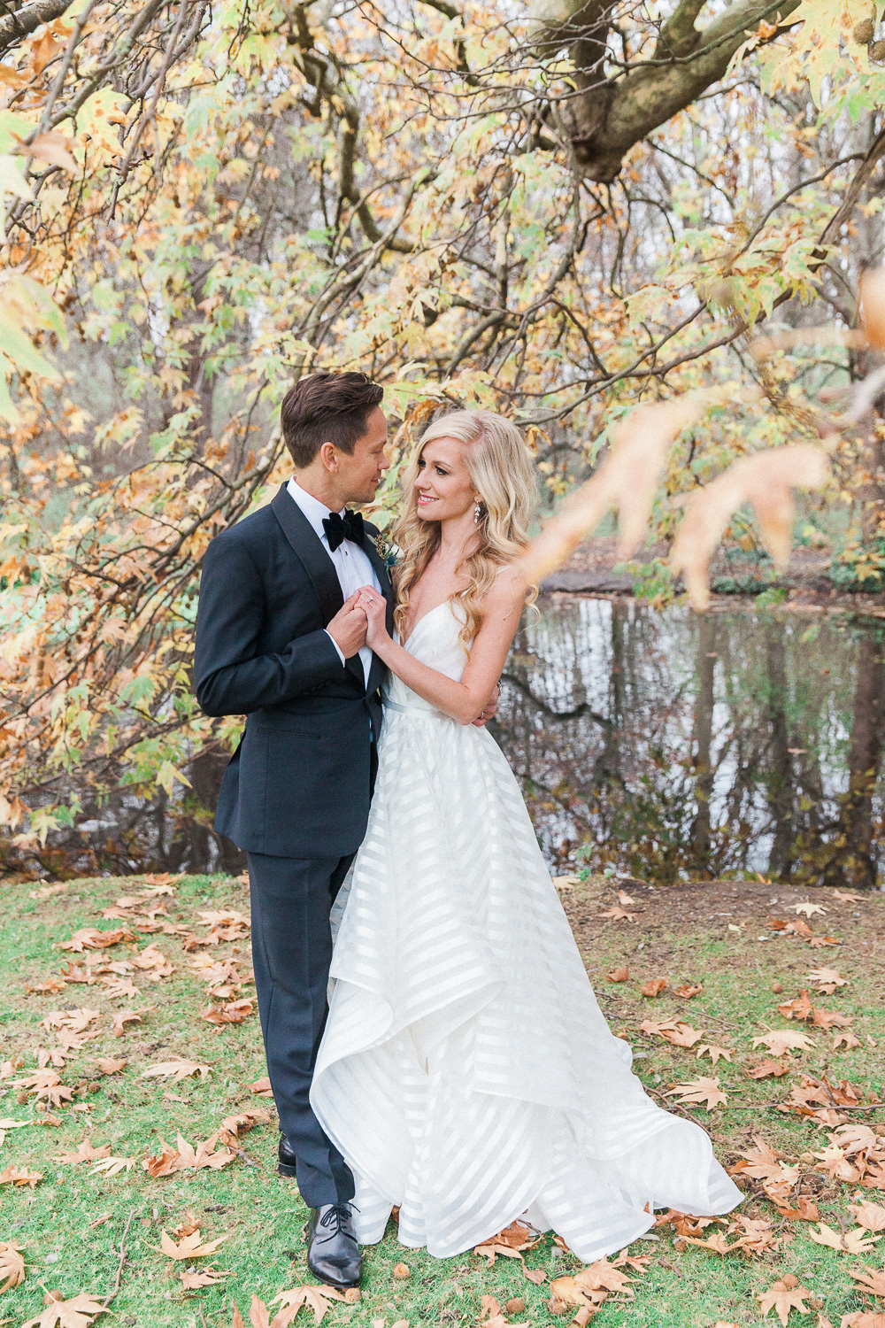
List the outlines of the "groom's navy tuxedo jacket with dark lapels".
{"label": "groom's navy tuxedo jacket with dark lapels", "polygon": [[[362,547],[390,627],[374,534],[366,526]],[[368,687],[358,655],[341,664],[324,628],[342,603],[334,564],[285,486],[206,551],[196,699],[206,714],[248,716],[215,817],[247,853],[337,858],[365,834],[383,664],[373,656]]]}

